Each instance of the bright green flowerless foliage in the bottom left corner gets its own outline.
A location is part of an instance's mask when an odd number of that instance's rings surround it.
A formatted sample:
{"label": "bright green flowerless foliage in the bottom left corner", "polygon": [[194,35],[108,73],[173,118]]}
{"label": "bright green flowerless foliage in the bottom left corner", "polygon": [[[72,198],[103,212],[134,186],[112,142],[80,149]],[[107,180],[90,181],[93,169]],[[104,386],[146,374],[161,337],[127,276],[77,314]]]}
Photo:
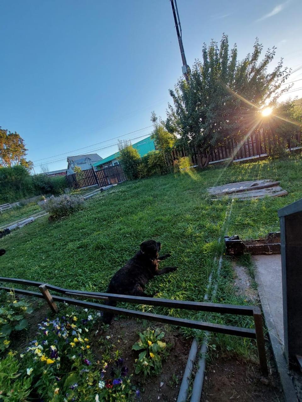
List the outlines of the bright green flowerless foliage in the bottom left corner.
{"label": "bright green flowerless foliage in the bottom left corner", "polygon": [[3,402],[22,402],[30,393],[31,377],[20,378],[20,364],[9,352],[0,360],[0,400]]}

